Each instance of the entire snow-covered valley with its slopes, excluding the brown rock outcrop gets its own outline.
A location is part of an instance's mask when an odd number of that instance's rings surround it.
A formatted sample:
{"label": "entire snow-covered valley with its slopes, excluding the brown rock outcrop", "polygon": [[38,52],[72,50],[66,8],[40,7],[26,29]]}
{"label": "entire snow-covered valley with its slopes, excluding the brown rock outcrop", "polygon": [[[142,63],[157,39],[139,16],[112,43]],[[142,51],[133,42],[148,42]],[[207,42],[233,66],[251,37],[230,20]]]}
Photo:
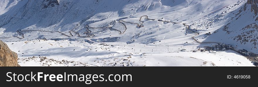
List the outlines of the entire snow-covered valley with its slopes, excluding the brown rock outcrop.
{"label": "entire snow-covered valley with its slopes, excluding the brown rock outcrop", "polygon": [[1,0],[0,39],[21,66],[254,66],[236,51],[258,53],[255,3]]}

